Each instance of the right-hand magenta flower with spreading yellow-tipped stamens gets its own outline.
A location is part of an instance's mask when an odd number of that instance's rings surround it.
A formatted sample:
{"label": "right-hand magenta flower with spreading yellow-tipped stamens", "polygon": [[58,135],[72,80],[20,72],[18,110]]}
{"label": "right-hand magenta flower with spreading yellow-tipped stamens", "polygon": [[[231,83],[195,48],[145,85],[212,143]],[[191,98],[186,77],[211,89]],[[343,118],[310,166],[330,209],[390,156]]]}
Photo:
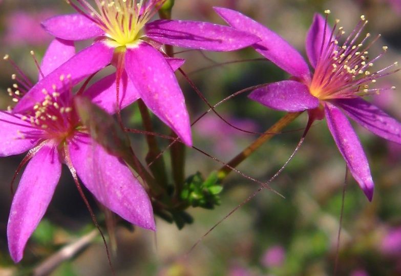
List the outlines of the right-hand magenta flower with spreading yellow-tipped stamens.
{"label": "right-hand magenta flower with spreading yellow-tipped stamens", "polygon": [[[379,89],[369,88],[370,84],[392,73],[387,69],[393,66],[370,71],[383,53],[368,61],[371,43],[367,44],[367,39],[370,34],[356,42],[367,23],[364,16],[345,43],[340,45],[343,29],[336,30],[336,26],[331,29],[327,19],[315,14],[306,38],[306,52],[314,68],[311,75],[302,56],[278,34],[239,12],[223,8],[216,8],[216,11],[231,26],[258,35],[262,40],[253,46],[254,49],[293,76],[291,80],[257,89],[249,98],[276,110],[308,110],[311,121],[326,117],[350,173],[367,198],[372,200],[374,185],[369,164],[344,113],[374,134],[396,143],[401,143],[401,124],[361,97],[376,93]],[[385,52],[387,47],[383,49]]]}

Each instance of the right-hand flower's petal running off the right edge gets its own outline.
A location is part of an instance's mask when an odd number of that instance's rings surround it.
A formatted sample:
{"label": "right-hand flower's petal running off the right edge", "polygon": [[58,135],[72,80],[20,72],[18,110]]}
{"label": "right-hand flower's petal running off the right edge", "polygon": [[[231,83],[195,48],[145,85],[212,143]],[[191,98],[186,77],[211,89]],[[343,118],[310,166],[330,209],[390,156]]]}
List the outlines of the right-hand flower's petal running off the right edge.
{"label": "right-hand flower's petal running off the right edge", "polygon": [[401,123],[362,98],[336,100],[349,117],[374,134],[401,144]]}

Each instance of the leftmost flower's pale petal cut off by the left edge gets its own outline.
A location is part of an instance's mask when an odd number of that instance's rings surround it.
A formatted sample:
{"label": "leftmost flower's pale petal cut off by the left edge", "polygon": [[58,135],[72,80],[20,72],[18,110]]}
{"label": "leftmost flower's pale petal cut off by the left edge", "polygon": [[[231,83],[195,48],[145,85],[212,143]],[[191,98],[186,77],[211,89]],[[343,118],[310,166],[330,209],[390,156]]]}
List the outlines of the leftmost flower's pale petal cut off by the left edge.
{"label": "leftmost flower's pale petal cut off by the left edge", "polygon": [[0,111],[0,156],[10,156],[24,153],[34,147],[38,138],[26,139],[25,136],[36,134],[39,136],[42,131],[32,128],[31,124],[20,119],[20,115],[10,114],[7,111]]}

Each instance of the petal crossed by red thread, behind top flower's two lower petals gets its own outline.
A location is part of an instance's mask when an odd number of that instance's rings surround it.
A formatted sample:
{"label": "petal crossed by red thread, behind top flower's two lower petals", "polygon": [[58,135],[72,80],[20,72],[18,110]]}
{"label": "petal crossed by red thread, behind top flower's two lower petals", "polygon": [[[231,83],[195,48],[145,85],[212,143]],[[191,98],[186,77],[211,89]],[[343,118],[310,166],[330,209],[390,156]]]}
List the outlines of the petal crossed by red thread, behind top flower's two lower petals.
{"label": "petal crossed by red thread, behind top flower's two lower petals", "polygon": [[[110,114],[116,112],[117,106],[117,80],[116,74],[111,74],[101,80],[95,82],[84,95],[92,99],[94,103],[99,105]],[[138,90],[132,81],[128,78],[125,70],[120,79],[119,87],[120,109],[123,109],[139,99]]]}

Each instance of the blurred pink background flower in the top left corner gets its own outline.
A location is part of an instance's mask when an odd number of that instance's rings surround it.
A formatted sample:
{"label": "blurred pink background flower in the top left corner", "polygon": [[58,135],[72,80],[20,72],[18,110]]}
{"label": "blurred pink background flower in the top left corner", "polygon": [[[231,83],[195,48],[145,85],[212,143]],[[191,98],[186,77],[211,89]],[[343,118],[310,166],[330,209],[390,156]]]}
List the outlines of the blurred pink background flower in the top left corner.
{"label": "blurred pink background flower in the top left corner", "polygon": [[10,13],[5,18],[4,42],[8,45],[29,44],[32,46],[49,43],[51,36],[43,30],[40,22],[55,13],[49,9],[40,12],[15,11]]}

